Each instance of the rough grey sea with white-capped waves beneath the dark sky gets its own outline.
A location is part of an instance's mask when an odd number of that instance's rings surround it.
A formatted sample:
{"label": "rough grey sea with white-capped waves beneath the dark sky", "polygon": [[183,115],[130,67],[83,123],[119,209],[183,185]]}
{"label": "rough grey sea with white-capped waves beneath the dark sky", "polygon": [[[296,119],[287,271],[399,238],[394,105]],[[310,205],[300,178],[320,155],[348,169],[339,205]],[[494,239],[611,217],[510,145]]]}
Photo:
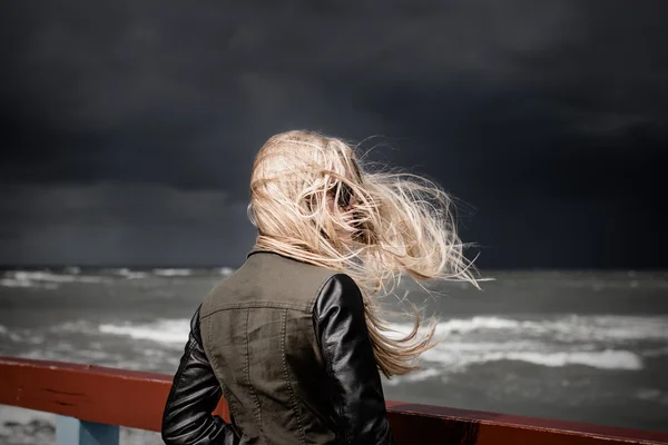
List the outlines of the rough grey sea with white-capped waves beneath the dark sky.
{"label": "rough grey sea with white-capped waves beneath the dark sky", "polygon": [[[233,268],[0,274],[0,355],[174,374],[189,319]],[[403,279],[382,304],[436,316],[393,400],[668,431],[668,270],[484,270],[482,289]],[[410,319],[393,318],[393,335]],[[0,382],[2,385],[2,382]],[[0,405],[0,444],[49,444],[55,417]],[[121,429],[121,443],[159,444]]]}

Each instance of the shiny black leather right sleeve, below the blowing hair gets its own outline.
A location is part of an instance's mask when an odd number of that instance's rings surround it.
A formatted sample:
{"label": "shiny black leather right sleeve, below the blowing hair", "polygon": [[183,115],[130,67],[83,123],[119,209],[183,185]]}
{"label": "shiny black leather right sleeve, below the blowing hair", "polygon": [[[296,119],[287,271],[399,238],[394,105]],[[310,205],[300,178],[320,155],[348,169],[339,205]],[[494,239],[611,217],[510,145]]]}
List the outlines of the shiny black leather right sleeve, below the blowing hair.
{"label": "shiny black leather right sleeve, below the blowing hair", "polygon": [[345,274],[330,278],[316,297],[313,317],[341,439],[345,444],[395,444],[355,281]]}

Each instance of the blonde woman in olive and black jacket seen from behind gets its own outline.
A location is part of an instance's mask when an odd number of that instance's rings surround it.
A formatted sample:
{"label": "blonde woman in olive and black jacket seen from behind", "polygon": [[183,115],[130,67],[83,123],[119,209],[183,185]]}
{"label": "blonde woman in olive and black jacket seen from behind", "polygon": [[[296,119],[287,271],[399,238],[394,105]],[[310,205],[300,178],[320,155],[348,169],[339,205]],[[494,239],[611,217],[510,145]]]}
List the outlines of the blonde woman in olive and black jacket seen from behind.
{"label": "blonde woman in olive and black jacket seen from behind", "polygon": [[[380,373],[418,368],[435,322],[392,335],[401,274],[477,285],[448,197],[362,169],[341,139],[272,137],[255,158],[246,263],[204,299],[163,418],[167,444],[393,444]],[[390,288],[387,288],[390,285]],[[212,411],[225,397],[230,423]]]}

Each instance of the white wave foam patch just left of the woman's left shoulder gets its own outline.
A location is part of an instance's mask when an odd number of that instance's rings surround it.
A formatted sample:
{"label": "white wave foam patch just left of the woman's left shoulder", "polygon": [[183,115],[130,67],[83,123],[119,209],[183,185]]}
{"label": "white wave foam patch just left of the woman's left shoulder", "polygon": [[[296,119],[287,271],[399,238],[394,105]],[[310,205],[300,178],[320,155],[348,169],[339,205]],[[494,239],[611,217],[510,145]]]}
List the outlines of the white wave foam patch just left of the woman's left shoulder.
{"label": "white wave foam patch just left of the woman's left shoulder", "polygon": [[102,324],[102,334],[124,335],[135,339],[153,340],[168,345],[183,345],[188,338],[190,320],[187,318],[160,319],[148,324]]}

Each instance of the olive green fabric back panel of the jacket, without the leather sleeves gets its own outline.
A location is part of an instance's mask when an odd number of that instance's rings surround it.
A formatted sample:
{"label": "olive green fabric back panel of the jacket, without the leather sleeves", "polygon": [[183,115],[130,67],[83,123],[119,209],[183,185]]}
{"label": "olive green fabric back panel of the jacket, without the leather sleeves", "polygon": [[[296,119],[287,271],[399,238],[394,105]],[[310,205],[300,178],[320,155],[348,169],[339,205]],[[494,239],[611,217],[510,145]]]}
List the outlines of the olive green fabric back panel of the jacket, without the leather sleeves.
{"label": "olive green fabric back panel of the jacket, without the leather sleeves", "polygon": [[205,298],[202,340],[242,444],[331,444],[333,404],[313,326],[335,273],[268,251]]}

